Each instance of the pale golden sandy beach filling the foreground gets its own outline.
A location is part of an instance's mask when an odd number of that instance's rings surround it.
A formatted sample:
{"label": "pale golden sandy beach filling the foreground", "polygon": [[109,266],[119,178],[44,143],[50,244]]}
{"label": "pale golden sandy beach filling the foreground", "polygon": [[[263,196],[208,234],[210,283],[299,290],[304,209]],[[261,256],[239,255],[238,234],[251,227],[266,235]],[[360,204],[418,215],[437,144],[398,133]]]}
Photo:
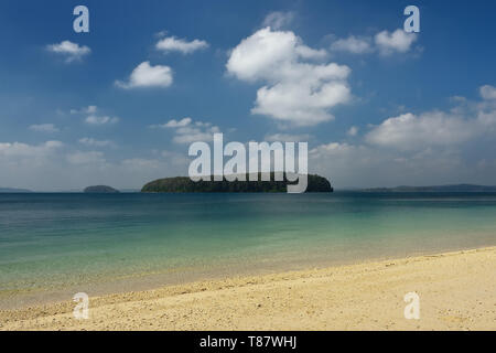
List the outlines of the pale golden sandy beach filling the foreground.
{"label": "pale golden sandy beach filling the foreground", "polygon": [[90,297],[87,320],[74,306],[0,311],[0,329],[496,330],[496,247]]}

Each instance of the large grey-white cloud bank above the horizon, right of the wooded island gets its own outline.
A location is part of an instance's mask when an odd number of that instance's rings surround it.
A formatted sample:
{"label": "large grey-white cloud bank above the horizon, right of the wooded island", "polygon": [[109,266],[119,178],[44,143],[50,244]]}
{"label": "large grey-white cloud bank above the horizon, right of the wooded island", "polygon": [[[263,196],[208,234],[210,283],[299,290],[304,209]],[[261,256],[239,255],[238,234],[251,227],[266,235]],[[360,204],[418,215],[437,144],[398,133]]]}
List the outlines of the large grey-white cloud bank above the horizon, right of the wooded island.
{"label": "large grey-white cloud bank above the horizon, right of the wooded island", "polygon": [[496,103],[486,98],[457,99],[446,111],[387,118],[353,143],[319,145],[309,151],[309,168],[337,188],[493,184]]}

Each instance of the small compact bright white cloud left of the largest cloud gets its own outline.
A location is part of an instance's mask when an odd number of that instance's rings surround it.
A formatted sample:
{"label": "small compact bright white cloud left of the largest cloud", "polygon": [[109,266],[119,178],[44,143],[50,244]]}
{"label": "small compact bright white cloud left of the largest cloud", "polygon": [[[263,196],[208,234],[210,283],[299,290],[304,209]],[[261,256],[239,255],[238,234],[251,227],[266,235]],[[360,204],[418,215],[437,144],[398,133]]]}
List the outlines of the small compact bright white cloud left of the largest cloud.
{"label": "small compact bright white cloud left of the largest cloud", "polygon": [[129,82],[116,81],[116,86],[125,89],[145,87],[169,87],[172,85],[172,69],[169,66],[151,66],[150,62],[139,64],[129,76]]}

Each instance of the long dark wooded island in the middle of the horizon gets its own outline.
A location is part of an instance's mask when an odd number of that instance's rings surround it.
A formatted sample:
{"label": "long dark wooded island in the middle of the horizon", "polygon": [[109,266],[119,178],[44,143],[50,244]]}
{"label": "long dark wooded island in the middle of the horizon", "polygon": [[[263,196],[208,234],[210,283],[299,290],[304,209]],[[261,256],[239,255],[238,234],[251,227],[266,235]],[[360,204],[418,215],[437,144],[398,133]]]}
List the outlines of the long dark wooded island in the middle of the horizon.
{"label": "long dark wooded island in the middle of the horizon", "polygon": [[[258,179],[260,180],[260,178]],[[188,176],[159,179],[145,184],[141,192],[287,192],[287,181],[198,181]],[[327,179],[309,175],[306,192],[333,192]]]}

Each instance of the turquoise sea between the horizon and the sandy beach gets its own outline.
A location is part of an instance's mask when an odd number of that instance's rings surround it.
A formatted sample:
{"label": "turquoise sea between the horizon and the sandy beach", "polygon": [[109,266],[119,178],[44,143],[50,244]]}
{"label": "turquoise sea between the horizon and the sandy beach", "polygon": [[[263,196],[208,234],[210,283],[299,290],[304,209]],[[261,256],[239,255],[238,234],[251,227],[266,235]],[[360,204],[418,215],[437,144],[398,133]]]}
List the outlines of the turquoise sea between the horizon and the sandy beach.
{"label": "turquoise sea between the horizon and the sandy beach", "polygon": [[486,193],[0,194],[0,300],[494,244]]}

